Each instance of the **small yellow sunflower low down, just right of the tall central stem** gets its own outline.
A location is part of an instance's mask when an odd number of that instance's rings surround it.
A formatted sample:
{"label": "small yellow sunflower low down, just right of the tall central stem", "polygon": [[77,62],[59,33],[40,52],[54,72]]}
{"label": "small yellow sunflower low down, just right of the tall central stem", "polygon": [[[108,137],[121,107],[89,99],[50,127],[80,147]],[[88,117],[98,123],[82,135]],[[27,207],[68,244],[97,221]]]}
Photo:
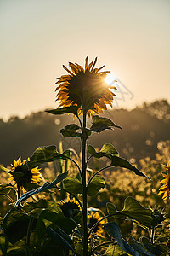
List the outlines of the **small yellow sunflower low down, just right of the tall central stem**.
{"label": "small yellow sunflower low down, just right of the tall central stem", "polygon": [[[99,216],[99,212],[92,212],[90,214],[90,216],[88,217],[88,228],[91,229],[94,224],[96,224],[99,220],[101,220],[102,217]],[[99,222],[99,224],[94,228],[94,233],[96,233],[96,235],[98,236],[101,236],[102,232],[103,232],[103,229],[102,229],[102,226],[103,224],[105,223],[104,220],[101,220]]]}

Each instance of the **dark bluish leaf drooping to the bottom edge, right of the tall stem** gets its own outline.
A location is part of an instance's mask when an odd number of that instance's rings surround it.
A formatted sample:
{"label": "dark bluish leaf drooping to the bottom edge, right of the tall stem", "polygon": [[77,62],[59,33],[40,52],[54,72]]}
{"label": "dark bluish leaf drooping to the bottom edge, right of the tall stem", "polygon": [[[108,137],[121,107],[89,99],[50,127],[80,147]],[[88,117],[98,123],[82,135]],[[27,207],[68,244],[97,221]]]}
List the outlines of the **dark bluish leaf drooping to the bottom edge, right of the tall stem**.
{"label": "dark bluish leaf drooping to the bottom edge, right of the tall stem", "polygon": [[115,238],[117,241],[119,247],[122,248],[122,250],[126,253],[129,253],[134,256],[140,256],[139,252],[134,250],[133,247],[131,247],[127,241],[122,239],[121,232],[119,226],[115,222],[109,222],[105,224],[105,230],[108,232],[108,234]]}

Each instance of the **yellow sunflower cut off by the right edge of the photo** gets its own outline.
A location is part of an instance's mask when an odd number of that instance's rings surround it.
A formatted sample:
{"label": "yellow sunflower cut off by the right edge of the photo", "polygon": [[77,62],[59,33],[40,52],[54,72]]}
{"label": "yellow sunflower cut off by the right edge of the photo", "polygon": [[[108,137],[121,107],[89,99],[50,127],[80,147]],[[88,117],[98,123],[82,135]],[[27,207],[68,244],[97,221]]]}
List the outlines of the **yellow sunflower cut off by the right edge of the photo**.
{"label": "yellow sunflower cut off by the right edge of the photo", "polygon": [[167,163],[166,170],[167,170],[167,175],[162,173],[162,176],[165,177],[161,183],[163,184],[160,188],[160,192],[158,195],[161,195],[164,193],[162,196],[162,199],[166,200],[168,197],[170,198],[170,160]]}

